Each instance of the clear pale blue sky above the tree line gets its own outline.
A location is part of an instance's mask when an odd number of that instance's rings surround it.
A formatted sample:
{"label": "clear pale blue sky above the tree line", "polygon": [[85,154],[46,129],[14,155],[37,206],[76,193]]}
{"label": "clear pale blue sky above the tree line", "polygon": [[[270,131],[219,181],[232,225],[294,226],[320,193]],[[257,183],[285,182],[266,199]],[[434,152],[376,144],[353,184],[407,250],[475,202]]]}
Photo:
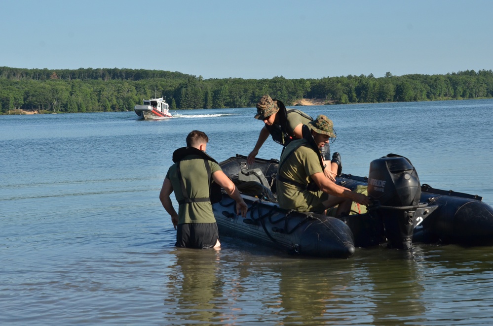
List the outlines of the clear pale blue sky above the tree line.
{"label": "clear pale blue sky above the tree line", "polygon": [[0,0],[0,66],[323,78],[493,69],[493,0]]}

